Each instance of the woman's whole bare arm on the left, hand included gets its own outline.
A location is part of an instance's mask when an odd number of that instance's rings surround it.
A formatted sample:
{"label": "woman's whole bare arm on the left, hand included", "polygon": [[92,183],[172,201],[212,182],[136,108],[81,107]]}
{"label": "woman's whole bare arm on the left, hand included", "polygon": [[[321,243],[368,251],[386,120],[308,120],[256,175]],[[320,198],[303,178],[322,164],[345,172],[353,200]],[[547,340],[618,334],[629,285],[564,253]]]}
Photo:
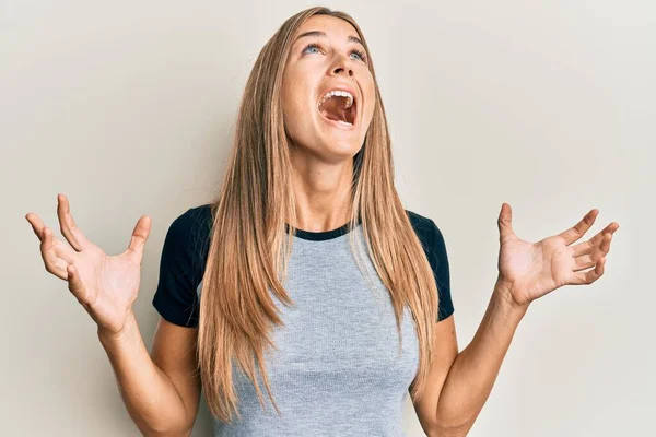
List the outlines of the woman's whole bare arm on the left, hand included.
{"label": "woman's whole bare arm on the left, hand included", "polygon": [[122,253],[107,256],[75,225],[63,194],[58,196],[57,215],[66,241],[55,238],[38,215],[28,213],[25,218],[40,240],[46,270],[68,282],[96,322],[128,413],[145,436],[188,436],[200,393],[197,329],[160,321],[151,357],[132,312],[150,217],[137,222]]}

